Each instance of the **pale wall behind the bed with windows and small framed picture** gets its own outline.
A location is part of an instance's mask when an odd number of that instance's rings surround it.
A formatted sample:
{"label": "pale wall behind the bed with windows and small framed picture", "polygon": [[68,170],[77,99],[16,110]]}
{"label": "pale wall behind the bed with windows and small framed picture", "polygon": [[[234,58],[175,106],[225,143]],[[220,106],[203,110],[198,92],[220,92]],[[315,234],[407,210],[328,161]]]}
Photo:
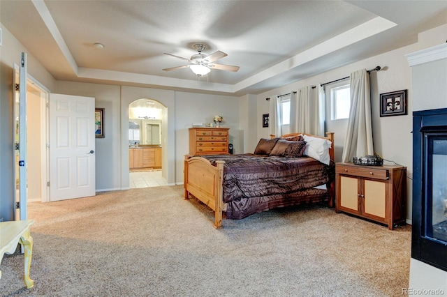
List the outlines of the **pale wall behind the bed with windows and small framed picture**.
{"label": "pale wall behind the bed with windows and small framed picture", "polygon": [[[353,71],[366,68],[367,70],[381,66],[382,70],[372,72],[369,76],[371,85],[371,108],[372,108],[372,128],[374,137],[374,151],[379,153],[383,158],[394,161],[407,168],[407,197],[406,197],[406,221],[411,224],[411,204],[412,191],[411,179],[413,177],[413,138],[411,134],[413,118],[412,118],[412,102],[413,96],[411,90],[411,69],[406,61],[406,54],[417,50],[432,47],[446,42],[447,24],[431,29],[419,34],[419,41],[413,45],[402,47],[400,49],[386,52],[369,59],[352,63],[350,65],[330,70],[326,73],[303,79],[293,84],[282,86],[281,88],[270,90],[258,95],[258,121],[261,116],[268,113],[268,103],[265,98],[274,98],[276,95],[296,91],[302,86],[314,86],[316,84],[324,84],[332,82],[335,79],[347,77]],[[379,97],[381,93],[390,91],[408,90],[408,113],[403,116],[380,117]],[[328,96],[326,96],[326,106],[329,106]],[[426,98],[427,102],[436,100],[434,98]],[[427,104],[427,103],[425,103]],[[346,134],[347,121],[330,121],[330,114],[326,114],[326,130],[335,132],[335,155],[336,161],[340,162],[344,145],[344,135]],[[268,137],[268,129],[258,129],[258,137]],[[385,162],[387,164],[387,162]],[[393,162],[388,162],[393,164]]]}

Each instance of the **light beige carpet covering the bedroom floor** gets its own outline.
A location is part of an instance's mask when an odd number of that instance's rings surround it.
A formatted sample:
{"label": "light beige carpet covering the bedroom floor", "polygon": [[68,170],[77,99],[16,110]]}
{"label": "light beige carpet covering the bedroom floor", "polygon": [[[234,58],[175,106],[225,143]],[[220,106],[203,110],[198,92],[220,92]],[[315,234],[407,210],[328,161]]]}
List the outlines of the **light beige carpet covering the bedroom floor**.
{"label": "light beige carpet covering the bedroom floor", "polygon": [[1,296],[402,296],[411,227],[323,206],[212,227],[181,185],[29,203],[34,252],[3,257]]}

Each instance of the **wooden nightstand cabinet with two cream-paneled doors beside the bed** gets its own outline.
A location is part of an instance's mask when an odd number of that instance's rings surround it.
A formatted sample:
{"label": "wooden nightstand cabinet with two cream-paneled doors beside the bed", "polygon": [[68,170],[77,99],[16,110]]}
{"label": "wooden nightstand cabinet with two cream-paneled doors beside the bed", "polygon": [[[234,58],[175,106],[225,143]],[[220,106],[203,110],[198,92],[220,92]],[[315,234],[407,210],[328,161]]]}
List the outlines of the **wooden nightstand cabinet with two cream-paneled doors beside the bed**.
{"label": "wooden nightstand cabinet with two cream-paneled doors beside the bed", "polygon": [[335,165],[335,211],[388,224],[405,222],[406,167]]}

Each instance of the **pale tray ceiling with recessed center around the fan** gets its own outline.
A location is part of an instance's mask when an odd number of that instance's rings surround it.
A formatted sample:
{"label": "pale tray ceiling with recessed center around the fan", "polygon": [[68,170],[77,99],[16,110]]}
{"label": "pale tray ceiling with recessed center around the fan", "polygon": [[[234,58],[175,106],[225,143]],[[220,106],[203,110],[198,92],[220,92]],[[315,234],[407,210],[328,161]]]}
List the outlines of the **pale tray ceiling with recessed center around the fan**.
{"label": "pale tray ceiling with recessed center around the fan", "polygon": [[[0,0],[0,11],[56,79],[235,96],[415,43],[447,23],[447,1]],[[164,53],[189,59],[196,43],[240,70],[162,70],[189,64]]]}

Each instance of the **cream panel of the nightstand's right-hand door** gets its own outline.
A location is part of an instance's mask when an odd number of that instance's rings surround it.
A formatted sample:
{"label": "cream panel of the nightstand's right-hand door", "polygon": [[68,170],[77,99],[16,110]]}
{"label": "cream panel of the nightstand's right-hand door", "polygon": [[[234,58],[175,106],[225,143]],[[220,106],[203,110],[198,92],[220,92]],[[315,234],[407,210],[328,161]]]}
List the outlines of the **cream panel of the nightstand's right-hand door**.
{"label": "cream panel of the nightstand's right-hand door", "polygon": [[386,218],[386,189],[382,181],[363,181],[363,209],[365,215]]}

